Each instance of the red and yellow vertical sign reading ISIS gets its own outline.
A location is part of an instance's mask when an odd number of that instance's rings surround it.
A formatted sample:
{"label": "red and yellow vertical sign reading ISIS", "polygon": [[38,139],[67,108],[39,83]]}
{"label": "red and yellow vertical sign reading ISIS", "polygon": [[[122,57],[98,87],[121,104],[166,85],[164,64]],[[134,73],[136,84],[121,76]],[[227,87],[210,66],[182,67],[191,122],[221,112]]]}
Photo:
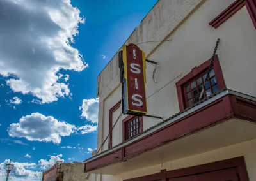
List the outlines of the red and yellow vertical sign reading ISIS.
{"label": "red and yellow vertical sign reading ISIS", "polygon": [[145,115],[147,113],[145,53],[132,43],[124,45],[123,52],[119,53],[119,68],[123,113]]}

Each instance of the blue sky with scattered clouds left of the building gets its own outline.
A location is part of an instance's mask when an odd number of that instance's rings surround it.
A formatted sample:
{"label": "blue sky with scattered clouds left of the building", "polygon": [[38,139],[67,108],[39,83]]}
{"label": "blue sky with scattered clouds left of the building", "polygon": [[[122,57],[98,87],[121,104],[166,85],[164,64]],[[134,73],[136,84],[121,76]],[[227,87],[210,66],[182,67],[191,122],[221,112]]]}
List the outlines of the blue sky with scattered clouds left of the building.
{"label": "blue sky with scattered clouds left of the building", "polygon": [[157,0],[0,0],[0,181],[97,149],[97,76]]}

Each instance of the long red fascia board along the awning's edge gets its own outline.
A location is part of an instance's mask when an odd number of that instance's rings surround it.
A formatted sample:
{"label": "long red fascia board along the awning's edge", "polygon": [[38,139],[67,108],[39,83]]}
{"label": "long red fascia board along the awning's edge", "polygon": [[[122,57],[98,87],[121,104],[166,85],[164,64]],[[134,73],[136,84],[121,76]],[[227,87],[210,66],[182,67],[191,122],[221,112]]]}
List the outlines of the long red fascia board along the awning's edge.
{"label": "long red fascia board along the awning's edge", "polygon": [[[200,110],[186,115],[186,117],[182,117],[139,140],[133,141],[129,145],[89,161],[86,163],[85,171],[97,170],[97,168],[108,164],[136,157],[154,148],[163,147],[163,145],[213,127],[233,117],[256,122],[256,101],[228,94],[200,108]],[[127,117],[125,120],[129,120],[129,118]]]}

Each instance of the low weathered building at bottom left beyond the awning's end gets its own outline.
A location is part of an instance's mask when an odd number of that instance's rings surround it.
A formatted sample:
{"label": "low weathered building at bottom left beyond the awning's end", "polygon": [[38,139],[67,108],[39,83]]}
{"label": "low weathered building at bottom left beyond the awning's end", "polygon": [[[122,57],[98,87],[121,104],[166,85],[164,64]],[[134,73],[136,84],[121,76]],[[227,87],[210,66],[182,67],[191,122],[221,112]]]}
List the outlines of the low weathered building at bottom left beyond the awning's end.
{"label": "low weathered building at bottom left beyond the awning's end", "polygon": [[86,180],[83,163],[62,163],[57,161],[54,166],[43,172],[42,181],[82,181]]}

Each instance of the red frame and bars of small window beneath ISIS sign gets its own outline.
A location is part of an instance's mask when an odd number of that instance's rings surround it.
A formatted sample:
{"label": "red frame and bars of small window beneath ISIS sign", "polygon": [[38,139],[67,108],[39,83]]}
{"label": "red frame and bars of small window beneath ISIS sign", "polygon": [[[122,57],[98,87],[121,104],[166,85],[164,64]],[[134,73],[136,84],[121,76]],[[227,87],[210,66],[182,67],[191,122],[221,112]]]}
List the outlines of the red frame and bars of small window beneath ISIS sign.
{"label": "red frame and bars of small window beneath ISIS sign", "polygon": [[[138,116],[135,116],[135,115],[129,115],[129,116],[125,117],[125,119],[123,119],[123,141],[129,139],[128,138],[128,128],[130,128],[131,126],[128,127],[128,124],[133,122],[133,120],[136,120],[136,119],[138,119],[138,125],[139,125],[139,122],[140,122],[140,126],[137,127],[136,126],[137,123],[135,121],[135,123],[136,123],[135,127],[136,127],[136,130],[138,130],[138,133],[137,132],[136,132],[136,134],[132,133],[132,136],[130,138],[132,138],[132,137],[136,136],[137,134],[140,134],[140,133],[143,132],[143,117],[138,117]],[[132,126],[134,126],[134,124],[132,124]],[[133,128],[132,128],[132,131],[134,131]]]}

